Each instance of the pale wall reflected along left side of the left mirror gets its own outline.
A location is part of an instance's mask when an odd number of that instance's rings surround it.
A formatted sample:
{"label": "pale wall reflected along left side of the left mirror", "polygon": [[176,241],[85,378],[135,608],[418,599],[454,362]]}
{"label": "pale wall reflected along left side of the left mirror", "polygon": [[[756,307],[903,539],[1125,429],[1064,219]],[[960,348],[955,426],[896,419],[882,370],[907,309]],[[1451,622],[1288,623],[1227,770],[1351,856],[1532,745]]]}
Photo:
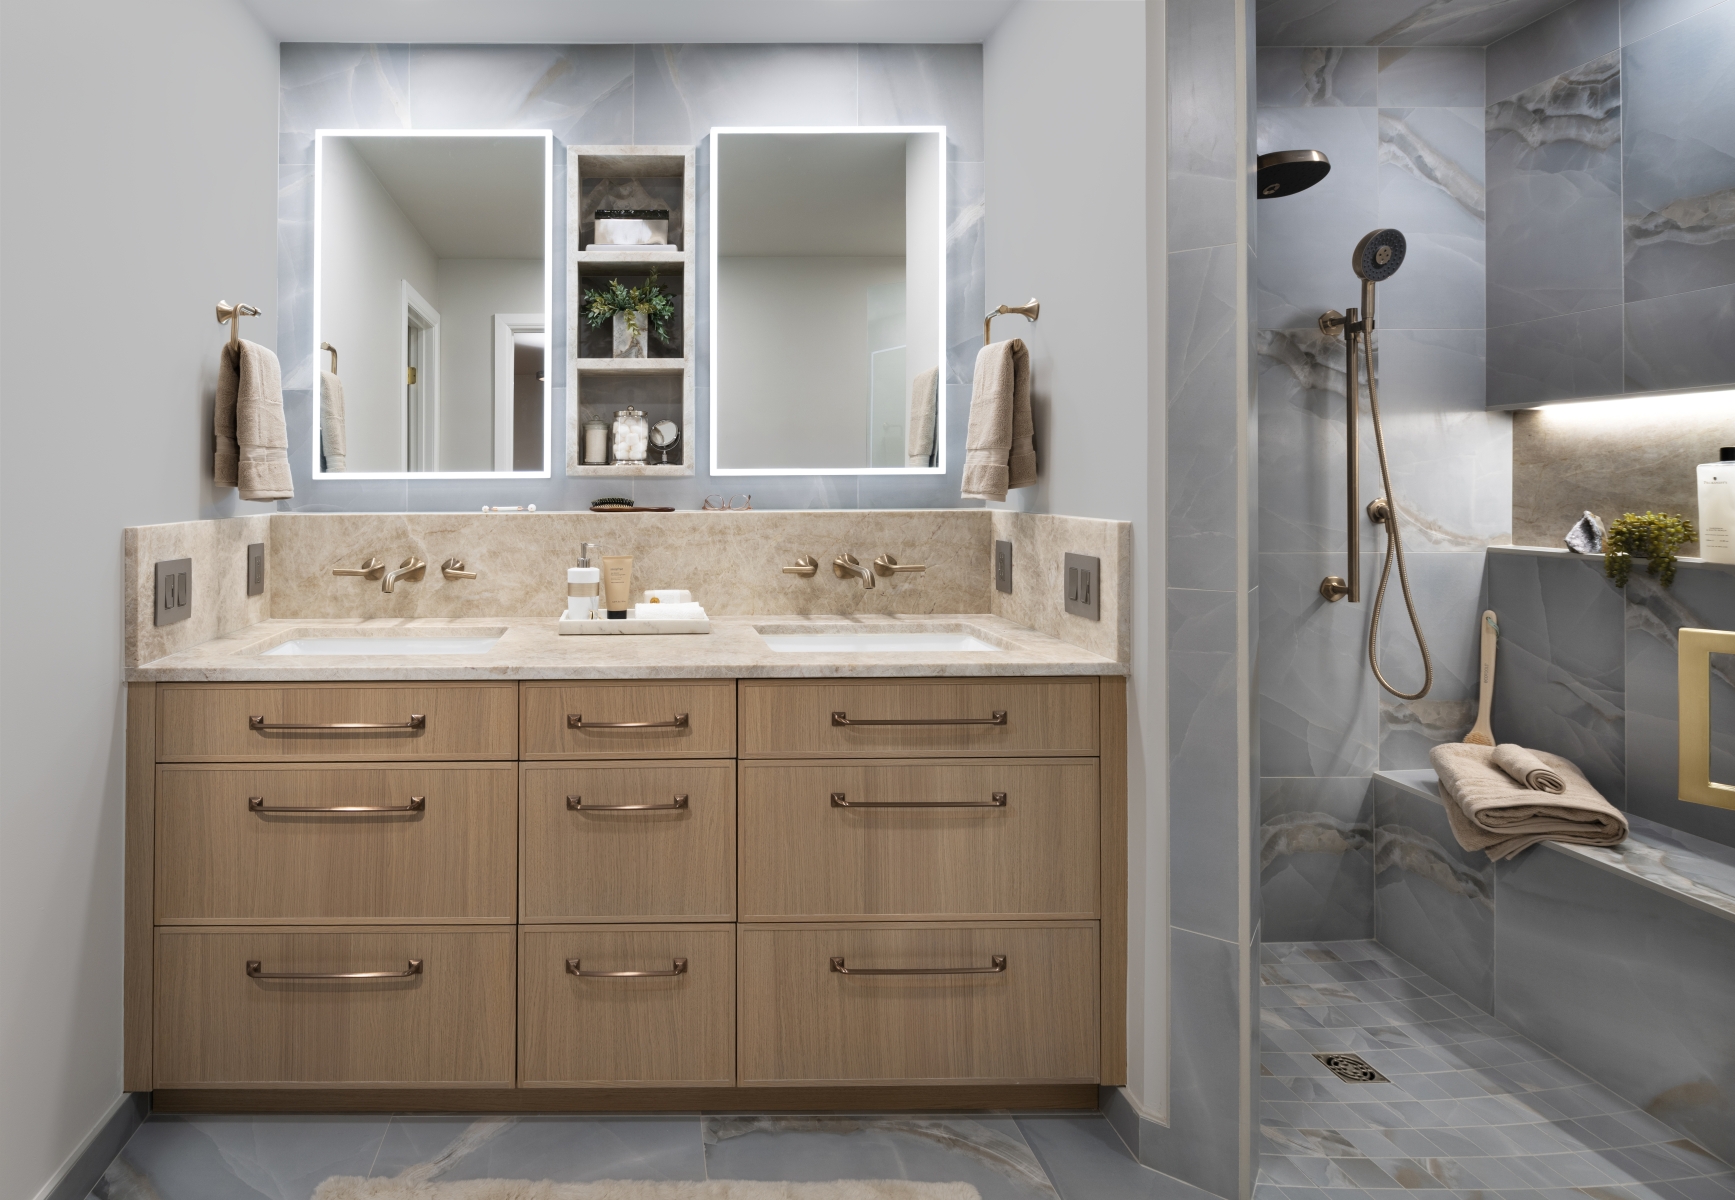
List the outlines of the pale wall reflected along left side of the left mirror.
{"label": "pale wall reflected along left side of the left mirror", "polygon": [[[319,342],[337,347],[347,470],[404,470],[404,281],[444,324],[434,248],[349,139],[324,139]],[[541,307],[538,298],[536,307]],[[446,333],[441,329],[441,338]],[[489,335],[493,336],[493,335]],[[305,347],[285,347],[305,354]],[[321,366],[330,357],[321,354]]]}

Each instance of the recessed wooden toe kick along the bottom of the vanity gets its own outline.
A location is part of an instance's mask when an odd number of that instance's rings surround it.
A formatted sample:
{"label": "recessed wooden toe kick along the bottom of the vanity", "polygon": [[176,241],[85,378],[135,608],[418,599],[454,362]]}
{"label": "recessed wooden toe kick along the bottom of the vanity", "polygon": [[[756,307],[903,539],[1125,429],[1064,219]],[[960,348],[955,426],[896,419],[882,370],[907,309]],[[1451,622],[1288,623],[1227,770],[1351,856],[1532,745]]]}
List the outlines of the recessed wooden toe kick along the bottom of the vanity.
{"label": "recessed wooden toe kick along the bottom of the vanity", "polygon": [[[160,1113],[1095,1112],[1097,1084],[885,1087],[175,1087]],[[56,1197],[56,1200],[59,1200]]]}

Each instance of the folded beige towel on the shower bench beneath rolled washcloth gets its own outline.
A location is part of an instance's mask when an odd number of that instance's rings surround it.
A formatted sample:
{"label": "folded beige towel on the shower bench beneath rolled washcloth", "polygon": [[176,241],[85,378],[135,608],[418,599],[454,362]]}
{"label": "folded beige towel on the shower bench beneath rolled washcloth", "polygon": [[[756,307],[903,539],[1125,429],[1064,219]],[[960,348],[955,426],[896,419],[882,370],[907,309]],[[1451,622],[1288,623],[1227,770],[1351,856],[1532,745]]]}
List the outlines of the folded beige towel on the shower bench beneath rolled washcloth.
{"label": "folded beige towel on the shower bench beneath rolled washcloth", "polygon": [[1499,862],[1539,841],[1582,846],[1626,841],[1626,815],[1591,787],[1584,772],[1560,754],[1530,753],[1560,775],[1560,796],[1535,792],[1503,772],[1494,765],[1492,746],[1450,742],[1428,753],[1459,846],[1485,850]]}

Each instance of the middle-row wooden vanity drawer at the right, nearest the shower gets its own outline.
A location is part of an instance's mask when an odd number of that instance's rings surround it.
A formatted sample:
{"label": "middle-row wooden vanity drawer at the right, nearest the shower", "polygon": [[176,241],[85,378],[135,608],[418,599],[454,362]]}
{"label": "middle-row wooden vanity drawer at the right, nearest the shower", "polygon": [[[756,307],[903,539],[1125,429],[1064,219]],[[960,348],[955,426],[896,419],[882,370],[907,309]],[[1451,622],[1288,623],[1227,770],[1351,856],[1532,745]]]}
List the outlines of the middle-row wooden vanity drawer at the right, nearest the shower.
{"label": "middle-row wooden vanity drawer at the right, nearest the shower", "polygon": [[1097,770],[743,763],[741,919],[1095,917]]}

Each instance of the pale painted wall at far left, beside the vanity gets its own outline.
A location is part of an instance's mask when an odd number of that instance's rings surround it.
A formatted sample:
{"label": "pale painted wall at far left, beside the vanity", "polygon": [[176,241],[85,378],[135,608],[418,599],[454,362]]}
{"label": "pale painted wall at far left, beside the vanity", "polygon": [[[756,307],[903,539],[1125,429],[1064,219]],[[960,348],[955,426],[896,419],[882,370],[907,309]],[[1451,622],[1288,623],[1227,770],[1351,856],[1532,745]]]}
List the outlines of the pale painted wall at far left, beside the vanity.
{"label": "pale painted wall at far left, beside the vanity", "polygon": [[[0,7],[0,1195],[121,1086],[121,527],[212,487],[212,307],[276,342],[278,49],[238,0]],[[243,569],[236,564],[236,569]],[[26,586],[17,586],[28,577]]]}

